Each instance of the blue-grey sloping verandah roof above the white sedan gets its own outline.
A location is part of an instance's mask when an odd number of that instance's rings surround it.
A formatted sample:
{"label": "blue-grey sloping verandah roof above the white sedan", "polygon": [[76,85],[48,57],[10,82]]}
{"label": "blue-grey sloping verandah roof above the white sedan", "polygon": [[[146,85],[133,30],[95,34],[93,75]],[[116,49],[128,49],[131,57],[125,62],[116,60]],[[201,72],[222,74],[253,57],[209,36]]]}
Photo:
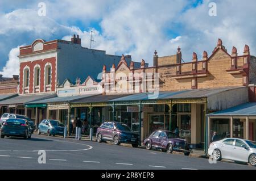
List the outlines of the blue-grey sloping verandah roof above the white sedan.
{"label": "blue-grey sloping verandah roof above the white sedan", "polygon": [[226,110],[209,113],[207,116],[256,116],[256,102],[240,104]]}

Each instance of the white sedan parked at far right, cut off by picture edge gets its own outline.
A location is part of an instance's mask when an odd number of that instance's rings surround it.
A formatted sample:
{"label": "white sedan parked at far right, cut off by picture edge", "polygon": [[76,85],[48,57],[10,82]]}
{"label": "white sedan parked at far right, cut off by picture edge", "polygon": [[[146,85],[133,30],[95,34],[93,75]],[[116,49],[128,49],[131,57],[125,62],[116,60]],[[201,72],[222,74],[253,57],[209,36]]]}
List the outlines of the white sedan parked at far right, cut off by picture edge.
{"label": "white sedan parked at far right, cut off by picture edge", "polygon": [[254,141],[225,138],[212,142],[209,146],[208,154],[212,155],[217,161],[230,159],[256,166],[256,142]]}

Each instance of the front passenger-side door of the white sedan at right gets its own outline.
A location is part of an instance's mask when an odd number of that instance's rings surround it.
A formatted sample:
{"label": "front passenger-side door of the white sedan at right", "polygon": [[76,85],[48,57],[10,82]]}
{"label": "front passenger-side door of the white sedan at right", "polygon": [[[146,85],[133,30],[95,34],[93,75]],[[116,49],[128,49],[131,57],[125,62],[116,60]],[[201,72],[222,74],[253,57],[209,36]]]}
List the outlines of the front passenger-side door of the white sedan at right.
{"label": "front passenger-side door of the white sedan at right", "polygon": [[232,157],[236,161],[247,162],[249,154],[249,146],[242,140],[236,139],[236,142],[233,147]]}

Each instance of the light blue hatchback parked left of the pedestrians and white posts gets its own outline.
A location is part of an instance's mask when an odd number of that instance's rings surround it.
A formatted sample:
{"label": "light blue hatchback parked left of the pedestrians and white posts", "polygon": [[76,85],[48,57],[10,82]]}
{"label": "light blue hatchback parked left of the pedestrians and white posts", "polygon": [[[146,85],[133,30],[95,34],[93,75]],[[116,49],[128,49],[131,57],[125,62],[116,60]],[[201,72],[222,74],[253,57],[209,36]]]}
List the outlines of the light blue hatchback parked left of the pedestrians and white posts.
{"label": "light blue hatchback parked left of the pedestrians and white posts", "polygon": [[42,120],[38,126],[38,134],[45,133],[48,136],[64,136],[65,125],[57,120]]}

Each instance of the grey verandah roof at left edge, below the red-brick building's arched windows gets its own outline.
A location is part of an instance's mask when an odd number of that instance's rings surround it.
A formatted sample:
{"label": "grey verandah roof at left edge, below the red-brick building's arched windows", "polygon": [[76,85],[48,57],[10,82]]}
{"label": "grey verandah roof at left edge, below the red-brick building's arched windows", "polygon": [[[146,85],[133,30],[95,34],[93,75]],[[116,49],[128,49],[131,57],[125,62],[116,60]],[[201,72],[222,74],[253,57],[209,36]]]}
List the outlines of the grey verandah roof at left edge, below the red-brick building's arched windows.
{"label": "grey verandah roof at left edge, below the red-brick building's arched windows", "polygon": [[24,104],[26,102],[31,102],[34,100],[42,100],[55,97],[56,94],[40,94],[40,95],[18,95],[10,99],[0,101],[0,105],[9,104]]}

